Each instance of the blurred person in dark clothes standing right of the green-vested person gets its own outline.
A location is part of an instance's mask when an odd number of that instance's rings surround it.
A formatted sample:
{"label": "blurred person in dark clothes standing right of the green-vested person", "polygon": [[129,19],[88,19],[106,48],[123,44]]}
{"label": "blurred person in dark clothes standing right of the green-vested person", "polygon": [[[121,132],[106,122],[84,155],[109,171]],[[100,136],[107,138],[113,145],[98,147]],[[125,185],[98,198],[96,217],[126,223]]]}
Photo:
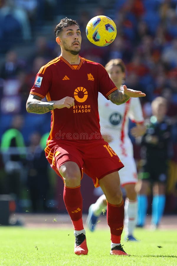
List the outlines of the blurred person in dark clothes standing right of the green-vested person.
{"label": "blurred person in dark clothes standing right of the green-vested person", "polygon": [[30,136],[27,157],[27,186],[30,191],[32,212],[47,210],[49,191],[48,164],[45,151],[40,146],[41,135],[38,132]]}

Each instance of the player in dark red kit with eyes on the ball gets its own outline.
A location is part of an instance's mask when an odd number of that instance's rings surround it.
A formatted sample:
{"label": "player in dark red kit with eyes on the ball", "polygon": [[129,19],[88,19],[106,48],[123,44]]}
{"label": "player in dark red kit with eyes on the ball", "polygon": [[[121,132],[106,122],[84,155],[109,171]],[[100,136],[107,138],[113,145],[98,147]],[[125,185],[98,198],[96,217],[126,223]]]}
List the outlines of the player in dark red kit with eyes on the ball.
{"label": "player in dark red kit with eyes on the ball", "polygon": [[[64,181],[63,199],[74,227],[75,254],[88,253],[80,191],[84,172],[106,195],[110,254],[127,255],[120,243],[124,203],[118,171],[124,165],[101,137],[98,92],[117,105],[145,94],[127,89],[125,85],[124,91],[117,90],[101,64],[79,56],[81,32],[75,20],[62,19],[55,27],[55,36],[61,54],[37,73],[27,100],[27,111],[51,111],[45,154],[50,166]],[[47,102],[42,101],[45,96]]]}

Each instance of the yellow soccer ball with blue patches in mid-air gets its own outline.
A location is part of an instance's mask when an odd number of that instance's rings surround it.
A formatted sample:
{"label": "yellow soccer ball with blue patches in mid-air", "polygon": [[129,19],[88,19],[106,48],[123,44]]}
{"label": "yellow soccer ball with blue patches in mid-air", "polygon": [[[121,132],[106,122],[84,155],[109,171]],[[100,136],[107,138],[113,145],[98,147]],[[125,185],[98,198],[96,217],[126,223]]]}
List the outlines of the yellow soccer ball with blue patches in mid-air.
{"label": "yellow soccer ball with blue patches in mid-air", "polygon": [[97,46],[107,46],[116,38],[116,24],[106,16],[93,17],[86,26],[88,40]]}

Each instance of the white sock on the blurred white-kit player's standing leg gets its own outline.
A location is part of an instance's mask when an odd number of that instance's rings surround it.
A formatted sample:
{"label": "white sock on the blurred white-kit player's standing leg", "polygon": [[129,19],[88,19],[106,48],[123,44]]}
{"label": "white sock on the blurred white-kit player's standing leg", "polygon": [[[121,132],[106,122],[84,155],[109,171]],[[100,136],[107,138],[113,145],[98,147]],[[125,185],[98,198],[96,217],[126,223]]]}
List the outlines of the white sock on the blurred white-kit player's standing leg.
{"label": "white sock on the blurred white-kit player's standing leg", "polygon": [[137,224],[137,200],[129,200],[126,198],[125,200],[125,220],[124,220],[124,226],[125,226],[125,232],[127,236],[130,236],[133,234],[133,231],[135,229],[135,226]]}

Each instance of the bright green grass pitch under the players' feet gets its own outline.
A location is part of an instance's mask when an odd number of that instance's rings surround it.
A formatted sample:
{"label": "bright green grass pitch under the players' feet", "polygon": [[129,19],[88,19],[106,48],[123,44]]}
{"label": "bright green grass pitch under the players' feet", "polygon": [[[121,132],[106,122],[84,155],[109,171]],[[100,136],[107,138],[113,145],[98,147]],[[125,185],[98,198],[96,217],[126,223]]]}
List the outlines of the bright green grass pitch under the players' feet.
{"label": "bright green grass pitch under the players' feet", "polygon": [[[71,229],[0,227],[0,265],[177,265],[177,233],[136,229],[139,242],[125,242],[127,256],[111,256],[109,230],[87,230],[87,256],[73,253]],[[123,237],[122,237],[123,239]],[[158,246],[161,246],[159,248]]]}

